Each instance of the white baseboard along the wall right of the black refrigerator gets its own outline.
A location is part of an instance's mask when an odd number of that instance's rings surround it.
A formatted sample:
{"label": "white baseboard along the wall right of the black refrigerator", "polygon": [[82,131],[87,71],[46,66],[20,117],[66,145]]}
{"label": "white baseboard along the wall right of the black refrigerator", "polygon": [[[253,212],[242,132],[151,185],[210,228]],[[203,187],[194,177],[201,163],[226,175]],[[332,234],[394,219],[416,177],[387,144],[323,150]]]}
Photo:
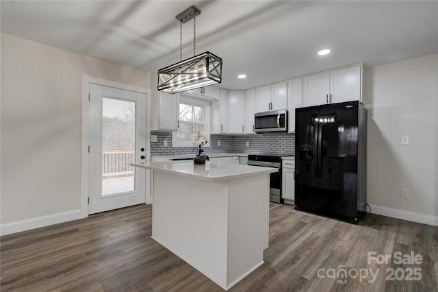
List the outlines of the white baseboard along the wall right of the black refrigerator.
{"label": "white baseboard along the wall right of the black refrigerator", "polygon": [[403,219],[417,223],[423,223],[431,226],[438,226],[438,216],[420,214],[417,212],[399,210],[399,209],[376,206],[371,204],[370,204],[370,208],[372,214],[383,215],[387,217]]}

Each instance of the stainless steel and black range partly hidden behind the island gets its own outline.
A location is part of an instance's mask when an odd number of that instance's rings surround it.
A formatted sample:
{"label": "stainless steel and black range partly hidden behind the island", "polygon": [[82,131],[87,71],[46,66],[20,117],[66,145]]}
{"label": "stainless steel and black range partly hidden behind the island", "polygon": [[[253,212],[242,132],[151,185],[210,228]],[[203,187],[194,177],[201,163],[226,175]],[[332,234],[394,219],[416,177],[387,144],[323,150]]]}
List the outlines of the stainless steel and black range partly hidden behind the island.
{"label": "stainless steel and black range partly hidden behind the island", "polygon": [[275,167],[279,171],[270,174],[269,197],[270,202],[283,203],[281,198],[281,157],[278,154],[250,154],[248,165],[257,167]]}

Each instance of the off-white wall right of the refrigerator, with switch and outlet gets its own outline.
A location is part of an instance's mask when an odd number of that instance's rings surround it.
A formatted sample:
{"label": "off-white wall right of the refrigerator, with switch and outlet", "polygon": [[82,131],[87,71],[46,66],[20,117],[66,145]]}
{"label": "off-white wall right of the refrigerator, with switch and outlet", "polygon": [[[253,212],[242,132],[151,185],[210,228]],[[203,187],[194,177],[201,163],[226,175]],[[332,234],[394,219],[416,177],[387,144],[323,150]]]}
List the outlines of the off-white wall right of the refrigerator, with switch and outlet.
{"label": "off-white wall right of the refrigerator, with switch and outlet", "polygon": [[376,214],[438,225],[438,54],[365,69],[363,93],[368,204]]}

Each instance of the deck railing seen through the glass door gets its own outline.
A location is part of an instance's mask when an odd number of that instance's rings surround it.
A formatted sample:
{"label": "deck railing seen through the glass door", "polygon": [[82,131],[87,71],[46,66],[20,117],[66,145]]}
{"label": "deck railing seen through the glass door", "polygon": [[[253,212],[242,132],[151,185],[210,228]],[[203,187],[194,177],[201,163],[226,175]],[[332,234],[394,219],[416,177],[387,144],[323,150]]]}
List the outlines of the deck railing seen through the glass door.
{"label": "deck railing seen through the glass door", "polygon": [[103,149],[102,176],[124,176],[134,173],[129,163],[134,161],[133,149]]}

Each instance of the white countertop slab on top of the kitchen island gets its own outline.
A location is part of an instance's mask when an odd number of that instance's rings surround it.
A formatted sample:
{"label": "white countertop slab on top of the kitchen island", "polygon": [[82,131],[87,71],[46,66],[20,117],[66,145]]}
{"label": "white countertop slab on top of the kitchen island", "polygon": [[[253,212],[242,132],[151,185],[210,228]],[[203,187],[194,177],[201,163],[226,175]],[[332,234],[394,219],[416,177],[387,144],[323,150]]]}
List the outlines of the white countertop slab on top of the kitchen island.
{"label": "white countertop slab on top of the kitchen island", "polygon": [[131,163],[133,167],[141,167],[152,171],[169,173],[172,175],[205,180],[207,182],[219,182],[222,180],[234,180],[262,173],[278,171],[273,167],[255,167],[250,165],[231,165],[220,162],[207,161],[203,166],[193,164],[193,161],[165,161],[165,162],[140,162]]}

